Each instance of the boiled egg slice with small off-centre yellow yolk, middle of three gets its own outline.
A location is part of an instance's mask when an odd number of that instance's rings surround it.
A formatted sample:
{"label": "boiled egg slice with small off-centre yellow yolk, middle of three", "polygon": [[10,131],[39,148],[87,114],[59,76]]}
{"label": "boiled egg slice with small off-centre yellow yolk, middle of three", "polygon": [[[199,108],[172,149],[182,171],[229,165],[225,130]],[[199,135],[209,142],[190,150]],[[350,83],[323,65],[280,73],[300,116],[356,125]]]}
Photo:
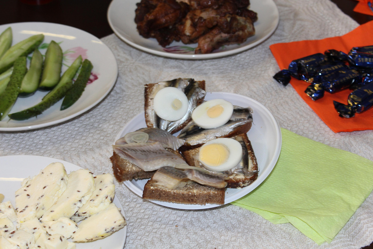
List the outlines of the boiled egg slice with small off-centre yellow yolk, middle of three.
{"label": "boiled egg slice with small off-centre yellow yolk, middle of three", "polygon": [[232,103],[223,99],[213,99],[196,107],[193,110],[192,119],[201,128],[211,129],[227,123],[232,113]]}

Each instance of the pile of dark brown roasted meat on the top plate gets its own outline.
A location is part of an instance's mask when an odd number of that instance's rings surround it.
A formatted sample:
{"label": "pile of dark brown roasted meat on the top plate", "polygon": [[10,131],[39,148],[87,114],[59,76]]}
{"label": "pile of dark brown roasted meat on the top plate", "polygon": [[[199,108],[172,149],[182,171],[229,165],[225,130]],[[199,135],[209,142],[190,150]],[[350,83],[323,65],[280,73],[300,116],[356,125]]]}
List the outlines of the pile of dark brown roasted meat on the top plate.
{"label": "pile of dark brown roasted meat on the top plate", "polygon": [[249,0],[141,0],[137,30],[166,47],[172,41],[198,43],[195,53],[211,53],[254,36],[257,14]]}

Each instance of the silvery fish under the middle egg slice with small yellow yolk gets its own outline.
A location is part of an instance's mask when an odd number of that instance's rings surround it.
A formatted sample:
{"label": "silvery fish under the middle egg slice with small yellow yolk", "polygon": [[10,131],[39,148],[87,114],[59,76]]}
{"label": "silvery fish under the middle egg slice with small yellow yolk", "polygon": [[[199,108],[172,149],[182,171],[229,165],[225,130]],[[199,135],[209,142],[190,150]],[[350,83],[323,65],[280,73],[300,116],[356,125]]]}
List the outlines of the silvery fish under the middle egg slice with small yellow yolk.
{"label": "silvery fish under the middle egg slice with small yellow yolk", "polygon": [[230,134],[235,133],[235,130],[239,129],[241,126],[251,125],[251,123],[253,123],[252,113],[253,110],[250,107],[243,108],[235,106],[231,119],[225,125],[212,129],[203,129],[196,125],[194,121],[190,121],[181,130],[178,138],[184,139],[185,145],[194,146],[213,139],[227,137]]}

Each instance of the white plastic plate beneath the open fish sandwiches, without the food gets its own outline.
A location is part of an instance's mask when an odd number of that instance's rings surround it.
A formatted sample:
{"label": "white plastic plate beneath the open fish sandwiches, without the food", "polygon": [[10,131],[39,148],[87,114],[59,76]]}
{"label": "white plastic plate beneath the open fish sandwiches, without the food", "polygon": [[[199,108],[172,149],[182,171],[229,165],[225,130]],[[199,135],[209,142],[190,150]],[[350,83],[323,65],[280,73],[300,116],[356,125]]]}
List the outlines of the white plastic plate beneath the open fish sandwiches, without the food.
{"label": "white plastic plate beneath the open fish sandwiches, without the food", "polygon": [[[251,129],[247,133],[247,136],[249,137],[249,140],[251,141],[254,148],[255,157],[258,161],[259,166],[259,175],[258,178],[247,187],[244,187],[242,189],[226,189],[224,204],[227,204],[253,191],[271,173],[281,151],[281,130],[272,113],[254,99],[239,94],[226,92],[208,92],[204,99],[225,99],[231,102],[233,105],[237,105],[240,107],[252,107],[254,110],[254,122]],[[123,137],[125,134],[142,127],[146,127],[144,112],[134,117],[123,128],[123,130],[119,132],[116,137],[116,141],[119,138]],[[142,191],[144,190],[144,185],[147,181],[148,179],[124,181],[124,185],[126,185],[132,192],[142,197]],[[189,210],[207,209],[220,206],[216,204],[190,205],[163,201],[152,202],[165,207]]]}

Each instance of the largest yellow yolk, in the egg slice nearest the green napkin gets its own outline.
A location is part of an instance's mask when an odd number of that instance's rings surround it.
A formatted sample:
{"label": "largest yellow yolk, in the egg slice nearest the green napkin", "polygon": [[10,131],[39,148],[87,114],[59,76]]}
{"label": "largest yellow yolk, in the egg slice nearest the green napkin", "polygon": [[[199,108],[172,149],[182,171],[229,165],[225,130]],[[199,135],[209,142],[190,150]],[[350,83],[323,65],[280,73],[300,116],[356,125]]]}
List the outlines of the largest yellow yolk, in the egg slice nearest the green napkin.
{"label": "largest yellow yolk, in the egg slice nearest the green napkin", "polygon": [[209,166],[219,166],[229,157],[229,149],[221,143],[207,144],[201,147],[200,161]]}

